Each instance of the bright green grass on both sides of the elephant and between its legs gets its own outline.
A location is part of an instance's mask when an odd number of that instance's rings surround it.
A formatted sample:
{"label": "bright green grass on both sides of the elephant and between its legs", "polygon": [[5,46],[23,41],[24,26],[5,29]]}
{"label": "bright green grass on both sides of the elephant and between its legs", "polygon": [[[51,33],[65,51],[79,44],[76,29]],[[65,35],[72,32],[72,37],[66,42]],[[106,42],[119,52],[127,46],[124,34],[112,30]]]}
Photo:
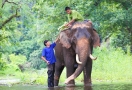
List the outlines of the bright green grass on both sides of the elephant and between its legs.
{"label": "bright green grass on both sides of the elephant and between its legs", "polygon": [[[128,50],[129,51],[129,50]],[[93,61],[92,82],[97,83],[116,83],[132,81],[132,56],[129,52],[124,53],[120,48],[96,48],[94,56],[98,59]],[[64,69],[60,77],[60,85],[64,85],[66,79],[66,70]],[[0,71],[2,78],[20,78],[21,83],[44,84],[47,85],[47,69],[20,71],[5,70]],[[83,84],[83,74],[75,79],[77,85]]]}

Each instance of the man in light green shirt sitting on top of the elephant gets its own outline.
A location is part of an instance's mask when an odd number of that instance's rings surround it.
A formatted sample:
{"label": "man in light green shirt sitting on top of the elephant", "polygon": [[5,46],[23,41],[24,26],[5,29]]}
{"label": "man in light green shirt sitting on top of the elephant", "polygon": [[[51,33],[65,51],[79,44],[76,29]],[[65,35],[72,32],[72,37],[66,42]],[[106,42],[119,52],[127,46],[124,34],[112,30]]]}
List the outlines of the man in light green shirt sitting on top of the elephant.
{"label": "man in light green shirt sitting on top of the elephant", "polygon": [[[70,7],[65,7],[65,11],[68,14],[67,17],[69,21],[68,23],[65,24],[65,27],[71,27],[74,24],[74,22],[77,21],[84,21],[83,16],[76,10],[71,10]],[[85,21],[88,21],[92,24],[90,20],[85,20]]]}

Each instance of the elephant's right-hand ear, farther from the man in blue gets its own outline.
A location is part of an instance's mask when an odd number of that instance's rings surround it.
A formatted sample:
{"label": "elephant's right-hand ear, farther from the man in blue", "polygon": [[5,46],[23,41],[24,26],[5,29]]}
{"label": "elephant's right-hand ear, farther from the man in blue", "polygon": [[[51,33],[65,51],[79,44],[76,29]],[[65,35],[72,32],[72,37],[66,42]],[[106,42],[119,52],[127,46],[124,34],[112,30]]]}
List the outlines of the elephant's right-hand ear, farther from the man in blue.
{"label": "elephant's right-hand ear, farther from the man in blue", "polygon": [[99,37],[99,35],[95,29],[93,29],[93,36],[94,36],[93,37],[93,46],[94,47],[97,47],[97,46],[100,47],[100,37]]}

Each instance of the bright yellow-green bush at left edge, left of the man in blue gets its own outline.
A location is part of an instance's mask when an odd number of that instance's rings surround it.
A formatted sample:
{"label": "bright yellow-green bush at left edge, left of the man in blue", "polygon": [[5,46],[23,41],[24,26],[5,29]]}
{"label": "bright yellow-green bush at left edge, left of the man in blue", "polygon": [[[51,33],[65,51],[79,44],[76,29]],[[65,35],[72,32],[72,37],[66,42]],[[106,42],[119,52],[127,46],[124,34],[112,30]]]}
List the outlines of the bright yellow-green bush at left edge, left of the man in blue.
{"label": "bright yellow-green bush at left edge, left of the man in blue", "polygon": [[16,73],[14,72],[21,72],[19,65],[24,64],[26,61],[27,58],[23,55],[2,55],[2,58],[0,59],[0,74],[11,76],[15,75]]}

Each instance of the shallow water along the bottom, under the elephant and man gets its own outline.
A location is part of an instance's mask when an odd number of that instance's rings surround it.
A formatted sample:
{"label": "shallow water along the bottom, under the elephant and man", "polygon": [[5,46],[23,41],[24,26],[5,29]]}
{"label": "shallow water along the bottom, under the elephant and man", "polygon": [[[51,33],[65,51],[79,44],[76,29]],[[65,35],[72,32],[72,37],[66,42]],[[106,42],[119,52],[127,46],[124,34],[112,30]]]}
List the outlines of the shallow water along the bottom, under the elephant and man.
{"label": "shallow water along the bottom, under the elephant and man", "polygon": [[94,84],[92,86],[47,88],[42,85],[0,86],[0,90],[132,90],[132,84]]}

